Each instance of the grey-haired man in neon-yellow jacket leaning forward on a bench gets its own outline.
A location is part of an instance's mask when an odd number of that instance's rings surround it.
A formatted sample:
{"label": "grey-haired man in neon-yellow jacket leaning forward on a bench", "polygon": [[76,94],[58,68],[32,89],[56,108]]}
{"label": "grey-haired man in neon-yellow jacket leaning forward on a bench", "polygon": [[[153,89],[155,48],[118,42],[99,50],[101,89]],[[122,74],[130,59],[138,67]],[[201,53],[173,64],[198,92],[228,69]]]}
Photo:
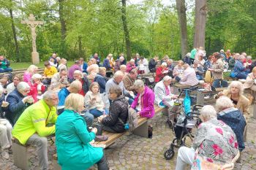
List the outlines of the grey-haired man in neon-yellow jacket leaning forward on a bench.
{"label": "grey-haired man in neon-yellow jacket leaning forward on a bench", "polygon": [[21,144],[37,147],[39,166],[48,169],[47,136],[55,134],[56,105],[59,98],[52,90],[45,92],[43,99],[28,107],[12,130],[12,136]]}

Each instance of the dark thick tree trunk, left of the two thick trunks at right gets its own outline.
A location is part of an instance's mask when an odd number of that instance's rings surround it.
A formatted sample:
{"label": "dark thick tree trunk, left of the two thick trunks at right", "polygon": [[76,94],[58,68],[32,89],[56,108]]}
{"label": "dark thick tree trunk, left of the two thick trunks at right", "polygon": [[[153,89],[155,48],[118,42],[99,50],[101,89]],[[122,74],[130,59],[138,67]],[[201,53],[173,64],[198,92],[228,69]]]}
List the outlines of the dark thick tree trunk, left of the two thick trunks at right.
{"label": "dark thick tree trunk, left of the two thick trunks at right", "polygon": [[181,28],[181,55],[184,57],[187,54],[187,15],[185,0],[176,0],[176,7]]}

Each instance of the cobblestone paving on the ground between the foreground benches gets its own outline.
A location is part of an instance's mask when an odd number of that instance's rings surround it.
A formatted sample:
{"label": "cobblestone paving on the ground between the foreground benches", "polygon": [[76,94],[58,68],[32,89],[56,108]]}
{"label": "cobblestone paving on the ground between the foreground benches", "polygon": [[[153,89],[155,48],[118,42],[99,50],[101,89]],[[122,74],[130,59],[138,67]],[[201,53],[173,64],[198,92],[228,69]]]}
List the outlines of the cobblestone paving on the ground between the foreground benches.
{"label": "cobblestone paving on the ground between the foreground benches", "polygon": [[[165,116],[157,115],[151,123],[154,125],[153,139],[135,135],[123,136],[105,150],[111,169],[175,169],[176,155],[170,161],[166,161],[163,157],[163,152],[173,139],[173,132],[165,123]],[[242,154],[241,163],[236,163],[236,170],[256,169],[256,120],[249,119],[248,125],[246,149]],[[54,152],[56,152],[54,145],[49,146],[50,169],[53,169],[51,155]],[[33,147],[29,148],[28,155],[31,169],[39,169],[36,151]],[[18,169],[13,165],[12,155],[9,160],[0,158],[0,169]],[[97,168],[95,166],[91,169]]]}

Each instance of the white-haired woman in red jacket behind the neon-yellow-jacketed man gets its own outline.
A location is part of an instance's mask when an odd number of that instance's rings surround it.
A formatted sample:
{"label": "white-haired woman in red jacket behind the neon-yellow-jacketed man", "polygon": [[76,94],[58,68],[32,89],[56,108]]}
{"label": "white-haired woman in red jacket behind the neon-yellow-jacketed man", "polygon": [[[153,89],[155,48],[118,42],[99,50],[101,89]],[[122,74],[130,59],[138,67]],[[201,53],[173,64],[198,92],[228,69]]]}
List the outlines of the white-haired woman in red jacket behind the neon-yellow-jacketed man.
{"label": "white-haired woman in red jacket behind the neon-yellow-jacketed man", "polygon": [[29,96],[32,96],[34,99],[34,103],[38,101],[38,99],[42,98],[42,93],[45,93],[46,87],[41,82],[42,75],[41,74],[34,74],[32,76],[31,82],[29,82],[30,91],[28,93]]}

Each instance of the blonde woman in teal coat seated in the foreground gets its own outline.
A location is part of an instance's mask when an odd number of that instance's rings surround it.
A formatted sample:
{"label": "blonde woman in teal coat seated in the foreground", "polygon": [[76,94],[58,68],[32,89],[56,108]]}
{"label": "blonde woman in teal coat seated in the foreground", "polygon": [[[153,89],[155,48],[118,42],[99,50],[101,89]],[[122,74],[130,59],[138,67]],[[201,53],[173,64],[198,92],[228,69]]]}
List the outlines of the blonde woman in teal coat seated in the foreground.
{"label": "blonde woman in teal coat seated in the foreground", "polygon": [[107,170],[108,161],[102,148],[89,142],[95,139],[97,128],[87,131],[87,125],[80,113],[84,109],[84,98],[71,93],[65,101],[65,111],[56,122],[56,149],[62,170],[89,169],[95,163],[98,169]]}

